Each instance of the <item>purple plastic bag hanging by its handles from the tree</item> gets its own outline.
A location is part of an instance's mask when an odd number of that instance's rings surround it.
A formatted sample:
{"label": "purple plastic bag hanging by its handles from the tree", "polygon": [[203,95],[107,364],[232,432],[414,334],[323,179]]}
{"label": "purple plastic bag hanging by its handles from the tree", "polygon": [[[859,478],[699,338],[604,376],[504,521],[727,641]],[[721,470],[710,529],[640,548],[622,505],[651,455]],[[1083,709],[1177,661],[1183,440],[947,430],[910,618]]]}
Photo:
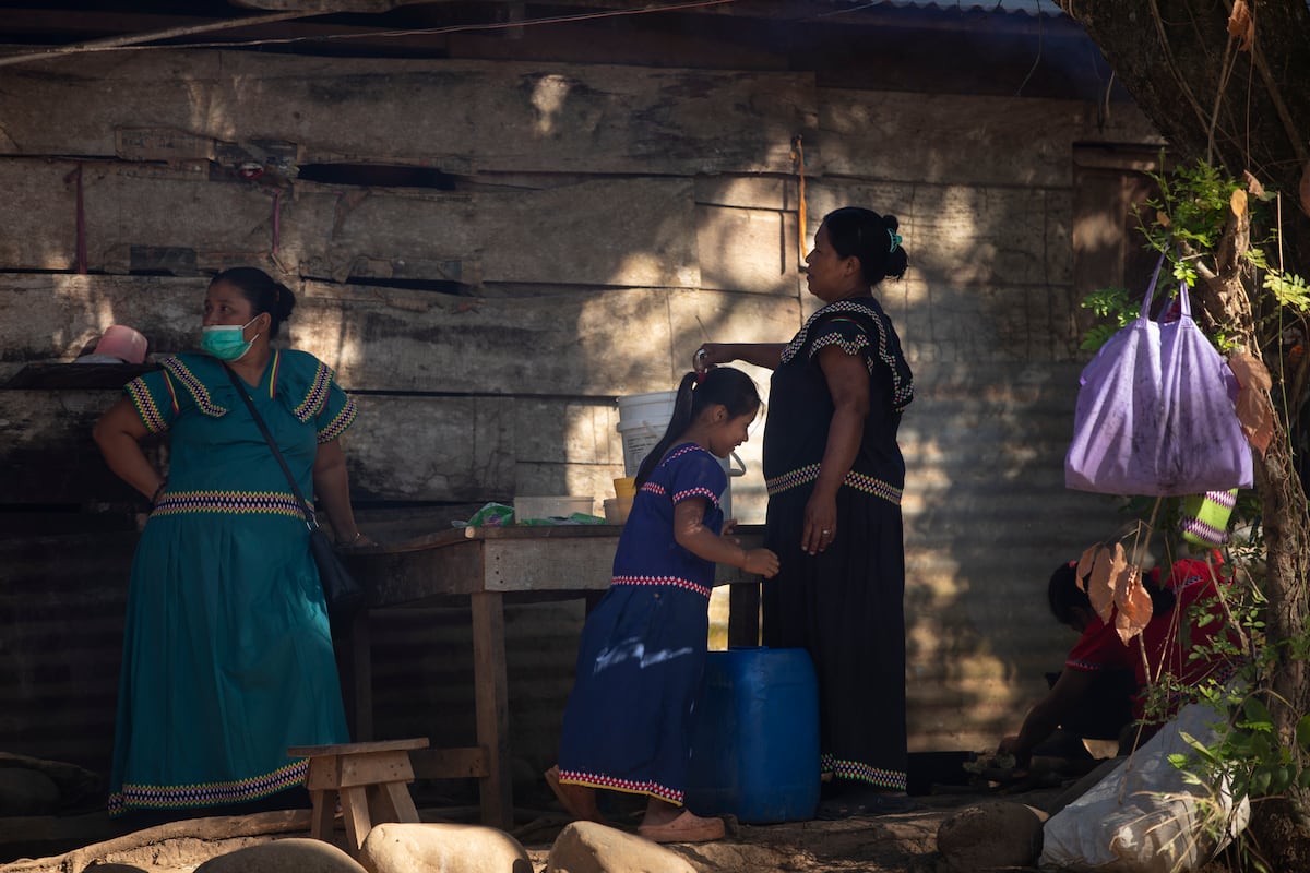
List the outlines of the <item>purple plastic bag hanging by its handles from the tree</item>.
{"label": "purple plastic bag hanging by its handles from the tree", "polygon": [[1178,321],[1150,318],[1161,264],[1141,315],[1082,370],[1065,455],[1069,488],[1187,496],[1251,484],[1237,377],[1192,321],[1187,285],[1178,291]]}

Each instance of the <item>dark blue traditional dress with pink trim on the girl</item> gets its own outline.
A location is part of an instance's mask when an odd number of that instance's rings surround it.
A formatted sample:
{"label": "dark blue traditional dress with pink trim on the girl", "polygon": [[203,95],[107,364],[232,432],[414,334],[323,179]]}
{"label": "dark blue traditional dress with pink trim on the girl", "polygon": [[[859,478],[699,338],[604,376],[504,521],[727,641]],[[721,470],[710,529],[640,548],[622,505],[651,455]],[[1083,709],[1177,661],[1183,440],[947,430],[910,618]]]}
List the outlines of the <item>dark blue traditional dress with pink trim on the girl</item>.
{"label": "dark blue traditional dress with pink trim on the girl", "polygon": [[706,501],[723,529],[727,474],[694,444],[675,446],[638,490],[609,590],[587,616],[559,742],[559,781],[681,805],[709,645],[714,563],[673,539],[673,507]]}

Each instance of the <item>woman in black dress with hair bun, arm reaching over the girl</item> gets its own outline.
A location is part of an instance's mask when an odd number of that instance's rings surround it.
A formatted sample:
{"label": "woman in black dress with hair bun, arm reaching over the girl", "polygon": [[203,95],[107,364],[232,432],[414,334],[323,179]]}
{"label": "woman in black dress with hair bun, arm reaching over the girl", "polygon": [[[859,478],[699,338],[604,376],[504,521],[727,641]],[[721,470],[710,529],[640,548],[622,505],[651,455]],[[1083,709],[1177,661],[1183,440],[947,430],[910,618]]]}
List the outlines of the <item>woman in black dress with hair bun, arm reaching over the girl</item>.
{"label": "woman in black dress with hair bun, arm reaching over the girl", "polygon": [[790,343],[706,343],[700,368],[773,370],[764,433],[764,641],[810,650],[819,677],[820,818],[903,811],[905,550],[896,442],[913,398],[909,365],[874,298],[908,259],[895,216],[845,207],[824,217],[806,284],[824,305]]}

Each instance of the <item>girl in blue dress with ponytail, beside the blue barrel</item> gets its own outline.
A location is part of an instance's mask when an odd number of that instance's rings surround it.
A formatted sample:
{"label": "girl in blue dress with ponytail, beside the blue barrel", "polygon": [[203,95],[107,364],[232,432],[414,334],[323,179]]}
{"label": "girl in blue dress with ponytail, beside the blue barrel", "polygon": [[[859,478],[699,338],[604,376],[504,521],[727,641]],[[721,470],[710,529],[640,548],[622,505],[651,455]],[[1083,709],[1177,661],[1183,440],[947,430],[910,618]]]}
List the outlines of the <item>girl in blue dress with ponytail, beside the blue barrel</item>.
{"label": "girl in blue dress with ponytail, beside the blue barrel", "polygon": [[642,461],[613,581],[583,627],[559,764],[546,774],[576,818],[603,821],[596,789],[605,788],[648,798],[642,836],[662,843],[723,836],[722,819],[683,809],[683,789],[714,565],[765,577],[778,571],[772,551],[745,550],[720,535],[727,474],[719,458],[745,442],[758,411],[755,383],[740,370],[711,370],[700,385],[688,373],[664,437]]}

